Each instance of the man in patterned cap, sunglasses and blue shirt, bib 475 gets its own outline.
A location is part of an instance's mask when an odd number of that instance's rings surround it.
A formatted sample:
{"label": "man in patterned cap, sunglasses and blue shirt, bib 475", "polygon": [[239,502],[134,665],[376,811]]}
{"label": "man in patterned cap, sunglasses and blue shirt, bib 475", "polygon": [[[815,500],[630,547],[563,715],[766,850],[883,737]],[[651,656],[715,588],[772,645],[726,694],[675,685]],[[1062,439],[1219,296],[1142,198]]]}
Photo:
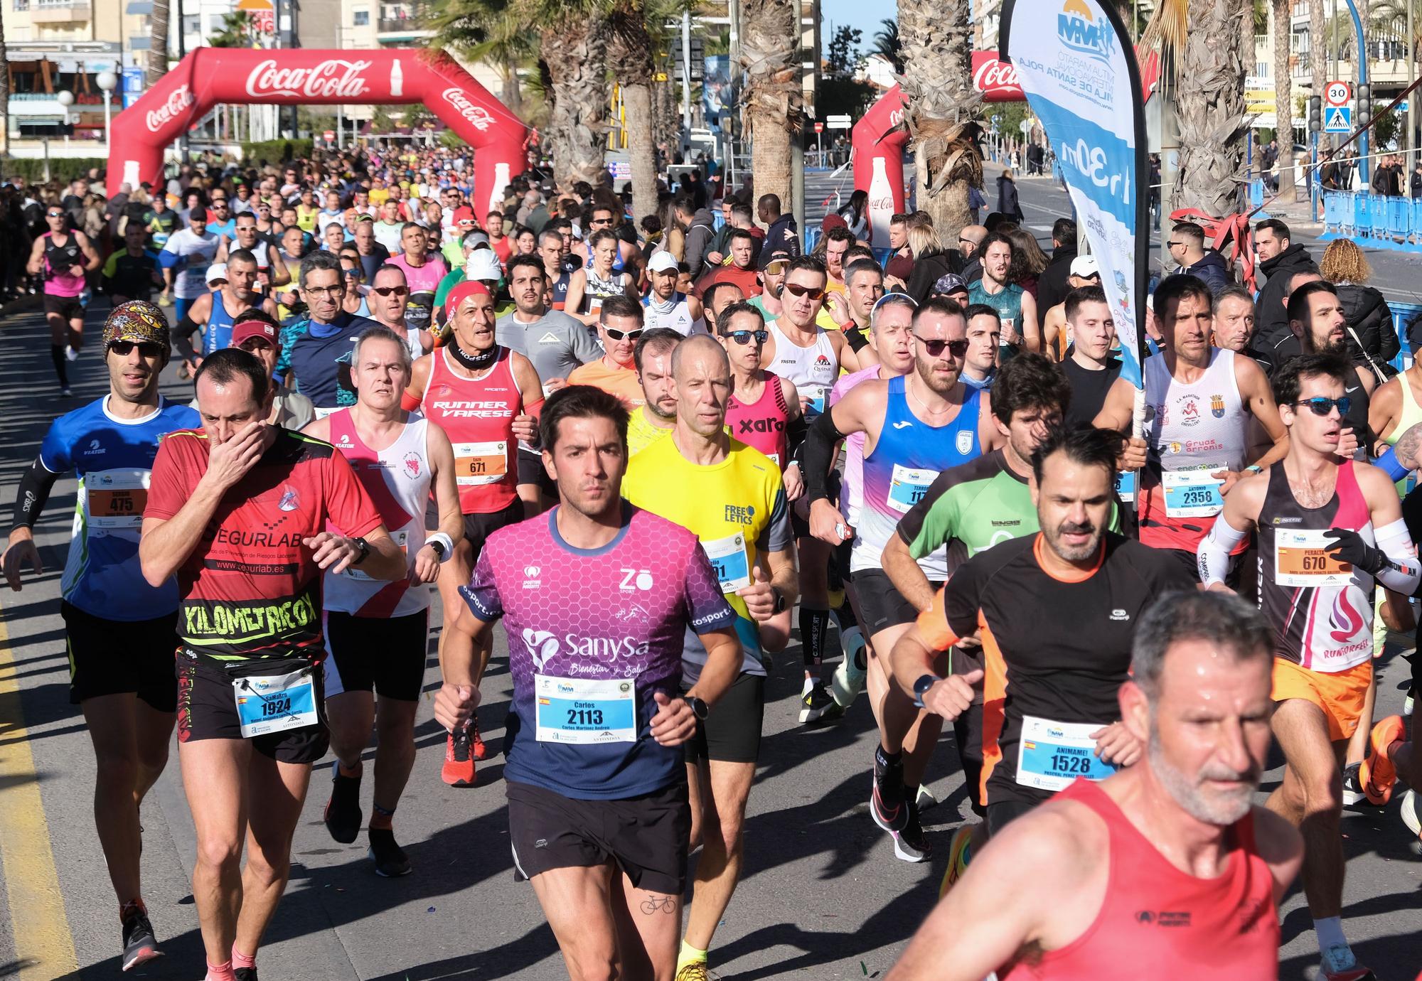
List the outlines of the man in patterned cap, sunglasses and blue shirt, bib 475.
{"label": "man in patterned cap, sunglasses and blue shirt, bib 475", "polygon": [[158,441],[199,425],[198,414],[158,394],[171,338],[162,310],[141,300],[104,323],[108,395],[57,418],[20,479],[4,576],[43,574],[34,525],[60,475],[80,478],[78,506],[61,584],[70,654],[70,701],[94,739],[94,823],[118,896],[127,971],[161,955],[139,883],[138,809],[168,762],[178,709],[173,651],[178,590],[144,583],[138,530]]}

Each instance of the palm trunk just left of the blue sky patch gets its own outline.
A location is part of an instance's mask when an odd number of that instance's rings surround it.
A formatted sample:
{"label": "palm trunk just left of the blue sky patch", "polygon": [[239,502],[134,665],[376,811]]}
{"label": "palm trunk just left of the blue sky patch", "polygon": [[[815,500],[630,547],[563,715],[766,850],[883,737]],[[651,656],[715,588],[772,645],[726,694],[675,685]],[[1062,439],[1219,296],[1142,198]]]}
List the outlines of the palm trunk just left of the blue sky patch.
{"label": "palm trunk just left of the blue sky patch", "polygon": [[757,195],[791,209],[792,135],[805,125],[799,67],[799,0],[744,0],[741,118]]}

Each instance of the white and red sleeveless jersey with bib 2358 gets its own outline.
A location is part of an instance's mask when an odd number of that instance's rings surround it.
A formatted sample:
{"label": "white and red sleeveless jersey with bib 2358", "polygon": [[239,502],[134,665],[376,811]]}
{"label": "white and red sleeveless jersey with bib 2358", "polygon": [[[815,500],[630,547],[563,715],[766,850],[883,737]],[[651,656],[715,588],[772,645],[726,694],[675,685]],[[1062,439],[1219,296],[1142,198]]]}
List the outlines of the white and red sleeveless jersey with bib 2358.
{"label": "white and red sleeveless jersey with bib 2358", "polygon": [[1209,475],[1244,466],[1249,415],[1234,380],[1234,351],[1212,348],[1210,367],[1189,385],[1172,377],[1165,361],[1145,364],[1140,542],[1194,552],[1224,506]]}

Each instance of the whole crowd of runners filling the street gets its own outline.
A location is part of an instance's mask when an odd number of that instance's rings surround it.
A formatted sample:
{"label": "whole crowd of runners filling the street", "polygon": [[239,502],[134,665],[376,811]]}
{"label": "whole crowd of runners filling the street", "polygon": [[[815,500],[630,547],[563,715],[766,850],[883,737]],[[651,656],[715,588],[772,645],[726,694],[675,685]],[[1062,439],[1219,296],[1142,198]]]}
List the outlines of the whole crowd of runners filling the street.
{"label": "whole crowd of runners filling the street", "polygon": [[[491,754],[502,620],[513,864],[574,981],[714,977],[795,644],[795,722],[865,692],[869,816],[944,869],[894,981],[1276,977],[1295,877],[1320,977],[1372,977],[1340,820],[1422,785],[1372,675],[1422,579],[1422,367],[1386,367],[1287,226],[1254,230],[1257,297],[1175,227],[1130,438],[1066,219],[1047,256],[1000,215],[953,246],[832,213],[803,254],[781,200],[714,176],[634,225],[536,158],[481,215],[468,164],[185,166],[105,199],[111,235],[65,206],[88,182],[16,185],[60,398],[111,300],[109,392],[50,427],[4,574],[43,572],[75,472],[61,614],[125,971],[161,954],[139,806],[175,728],[209,981],[257,977],[314,765],[331,837],[418,874],[395,815],[438,594],[441,776]],[[936,850],[944,729],[973,816]]]}

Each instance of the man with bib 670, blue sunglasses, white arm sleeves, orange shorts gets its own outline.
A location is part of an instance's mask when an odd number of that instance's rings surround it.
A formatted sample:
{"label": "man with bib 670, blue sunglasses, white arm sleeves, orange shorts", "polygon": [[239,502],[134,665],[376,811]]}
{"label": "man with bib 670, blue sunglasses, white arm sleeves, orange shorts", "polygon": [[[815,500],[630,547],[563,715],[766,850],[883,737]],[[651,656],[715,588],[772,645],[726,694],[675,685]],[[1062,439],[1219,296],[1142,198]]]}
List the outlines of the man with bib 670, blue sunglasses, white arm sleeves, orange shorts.
{"label": "man with bib 670, blue sunglasses, white arm sleeves, orange shorts", "polygon": [[1381,583],[1409,596],[1422,579],[1392,481],[1340,452],[1354,377],[1340,351],[1274,372],[1288,452],[1236,483],[1197,556],[1200,581],[1226,589],[1230,554],[1251,530],[1258,536],[1258,606],[1277,644],[1273,728],[1284,752],[1284,781],[1267,806],[1304,835],[1304,894],[1328,981],[1372,977],[1340,918],[1340,761],[1372,684],[1372,593]]}

